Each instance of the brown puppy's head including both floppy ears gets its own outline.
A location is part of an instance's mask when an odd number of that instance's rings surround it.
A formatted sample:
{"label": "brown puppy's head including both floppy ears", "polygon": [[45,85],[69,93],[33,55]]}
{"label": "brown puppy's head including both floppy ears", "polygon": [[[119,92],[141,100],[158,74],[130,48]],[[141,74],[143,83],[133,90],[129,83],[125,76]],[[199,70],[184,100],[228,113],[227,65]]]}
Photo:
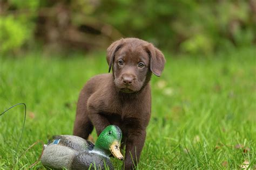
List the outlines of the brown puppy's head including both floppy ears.
{"label": "brown puppy's head including both floppy ears", "polygon": [[120,39],[107,48],[109,72],[113,68],[114,83],[124,93],[133,93],[149,82],[151,73],[160,76],[165,58],[149,42],[137,38]]}

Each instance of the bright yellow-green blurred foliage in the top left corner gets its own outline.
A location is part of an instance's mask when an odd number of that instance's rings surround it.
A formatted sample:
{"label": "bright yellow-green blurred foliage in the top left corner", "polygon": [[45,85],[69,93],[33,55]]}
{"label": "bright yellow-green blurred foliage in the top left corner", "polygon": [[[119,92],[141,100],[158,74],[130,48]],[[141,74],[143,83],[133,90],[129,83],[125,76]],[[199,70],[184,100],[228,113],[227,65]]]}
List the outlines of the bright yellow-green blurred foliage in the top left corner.
{"label": "bright yellow-green blurred foliage in the top left corner", "polygon": [[39,1],[9,0],[0,5],[0,54],[19,52],[33,37]]}

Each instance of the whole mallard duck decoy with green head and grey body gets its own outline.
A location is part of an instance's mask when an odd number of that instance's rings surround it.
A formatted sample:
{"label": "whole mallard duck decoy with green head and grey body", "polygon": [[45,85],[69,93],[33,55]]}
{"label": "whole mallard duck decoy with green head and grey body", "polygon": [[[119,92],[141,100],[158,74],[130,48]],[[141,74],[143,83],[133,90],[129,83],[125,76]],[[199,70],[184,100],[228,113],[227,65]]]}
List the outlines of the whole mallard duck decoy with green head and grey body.
{"label": "whole mallard duck decoy with green head and grey body", "polygon": [[53,136],[53,140],[44,147],[41,162],[49,168],[67,169],[113,169],[109,156],[123,160],[120,152],[122,131],[116,125],[107,126],[95,143],[72,135]]}

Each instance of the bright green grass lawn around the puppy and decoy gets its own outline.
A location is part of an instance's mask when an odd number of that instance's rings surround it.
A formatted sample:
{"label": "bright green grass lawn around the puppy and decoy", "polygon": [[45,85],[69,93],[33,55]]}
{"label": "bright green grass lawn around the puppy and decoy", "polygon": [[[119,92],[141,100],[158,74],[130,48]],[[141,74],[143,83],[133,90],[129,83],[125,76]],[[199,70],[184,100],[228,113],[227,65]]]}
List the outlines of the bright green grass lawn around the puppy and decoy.
{"label": "bright green grass lawn around the puppy and decoy", "polygon": [[[151,80],[152,116],[138,168],[239,169],[245,160],[253,168],[255,54],[249,48],[208,58],[166,54],[163,75]],[[21,102],[28,109],[16,158],[37,140],[72,134],[80,89],[93,75],[106,72],[103,53],[0,58],[0,111]],[[14,166],[22,121],[22,106],[0,117],[0,168]],[[41,151],[36,145],[14,168],[28,168]],[[112,160],[120,169],[122,162]],[[43,168],[41,162],[35,167]]]}

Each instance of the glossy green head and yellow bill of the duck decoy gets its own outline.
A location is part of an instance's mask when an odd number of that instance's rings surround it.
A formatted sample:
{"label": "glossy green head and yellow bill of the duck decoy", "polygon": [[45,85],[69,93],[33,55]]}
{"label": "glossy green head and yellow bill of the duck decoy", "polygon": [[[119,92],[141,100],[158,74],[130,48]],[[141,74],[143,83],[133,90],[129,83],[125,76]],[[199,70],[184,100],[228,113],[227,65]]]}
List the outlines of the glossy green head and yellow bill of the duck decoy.
{"label": "glossy green head and yellow bill of the duck decoy", "polygon": [[112,153],[114,157],[123,160],[124,157],[120,152],[121,140],[122,131],[120,128],[116,125],[109,125],[99,134],[93,150],[103,152],[108,156]]}

